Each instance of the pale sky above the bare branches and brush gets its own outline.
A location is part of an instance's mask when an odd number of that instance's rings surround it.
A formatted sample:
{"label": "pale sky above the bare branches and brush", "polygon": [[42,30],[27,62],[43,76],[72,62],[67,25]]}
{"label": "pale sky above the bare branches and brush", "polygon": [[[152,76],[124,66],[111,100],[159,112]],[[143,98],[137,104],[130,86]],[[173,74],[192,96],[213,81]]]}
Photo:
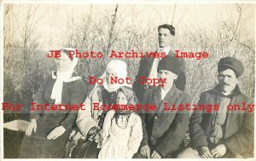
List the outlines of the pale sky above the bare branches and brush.
{"label": "pale sky above the bare branches and brush", "polygon": [[[241,28],[249,33],[245,37],[254,40],[255,36],[255,5],[242,4]],[[7,4],[4,5],[6,8]],[[82,23],[83,16],[90,12],[92,20],[98,20],[101,16],[113,14],[116,3],[18,3],[13,4],[13,18],[15,22],[15,36],[20,38],[20,33],[24,32],[26,14],[29,9],[37,9],[32,14],[33,27],[35,32],[41,35],[38,39],[40,46],[44,50],[61,47],[61,39],[67,32],[67,19],[71,15],[74,17],[74,26]],[[174,12],[175,10],[175,12]],[[212,31],[218,27],[223,20],[238,20],[236,4],[224,3],[119,3],[118,17],[127,26],[134,23],[138,30],[147,30],[148,26],[157,26],[168,23],[176,27],[177,36],[183,32],[188,32],[194,28]],[[7,19],[7,17],[4,17]],[[103,26],[104,24],[102,24]]]}

